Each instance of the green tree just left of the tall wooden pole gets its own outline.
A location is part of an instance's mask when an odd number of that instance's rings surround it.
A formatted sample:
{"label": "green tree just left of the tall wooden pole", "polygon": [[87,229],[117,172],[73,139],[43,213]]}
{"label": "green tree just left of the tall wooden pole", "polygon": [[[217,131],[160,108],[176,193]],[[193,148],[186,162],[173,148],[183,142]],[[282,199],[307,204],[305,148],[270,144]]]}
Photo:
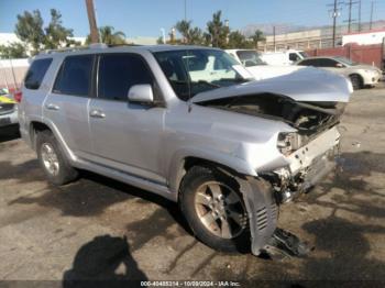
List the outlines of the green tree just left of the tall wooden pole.
{"label": "green tree just left of the tall wooden pole", "polygon": [[51,22],[47,27],[45,27],[45,41],[44,46],[48,49],[55,49],[63,45],[69,46],[70,44],[76,44],[73,37],[73,30],[66,29],[62,24],[62,14],[55,9],[51,9]]}

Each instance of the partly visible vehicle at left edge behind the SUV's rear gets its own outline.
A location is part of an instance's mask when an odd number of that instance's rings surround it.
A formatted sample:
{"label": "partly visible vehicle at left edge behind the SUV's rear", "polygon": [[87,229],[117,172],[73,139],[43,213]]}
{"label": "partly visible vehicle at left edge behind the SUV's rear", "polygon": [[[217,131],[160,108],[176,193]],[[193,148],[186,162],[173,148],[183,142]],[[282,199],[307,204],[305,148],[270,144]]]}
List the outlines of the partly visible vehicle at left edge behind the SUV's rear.
{"label": "partly visible vehicle at left edge behind the SUV's rear", "polygon": [[18,106],[6,89],[0,89],[0,128],[18,124]]}

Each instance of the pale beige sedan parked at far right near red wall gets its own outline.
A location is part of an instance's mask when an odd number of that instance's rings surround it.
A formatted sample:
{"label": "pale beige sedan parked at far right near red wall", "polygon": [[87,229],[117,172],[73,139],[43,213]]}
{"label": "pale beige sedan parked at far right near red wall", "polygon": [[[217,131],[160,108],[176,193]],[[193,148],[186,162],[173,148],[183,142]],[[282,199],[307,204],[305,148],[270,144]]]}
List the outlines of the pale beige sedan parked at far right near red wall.
{"label": "pale beige sedan parked at far right near red wall", "polygon": [[345,57],[309,57],[299,60],[297,65],[322,68],[349,77],[354,89],[375,86],[383,75],[375,66],[354,63]]}

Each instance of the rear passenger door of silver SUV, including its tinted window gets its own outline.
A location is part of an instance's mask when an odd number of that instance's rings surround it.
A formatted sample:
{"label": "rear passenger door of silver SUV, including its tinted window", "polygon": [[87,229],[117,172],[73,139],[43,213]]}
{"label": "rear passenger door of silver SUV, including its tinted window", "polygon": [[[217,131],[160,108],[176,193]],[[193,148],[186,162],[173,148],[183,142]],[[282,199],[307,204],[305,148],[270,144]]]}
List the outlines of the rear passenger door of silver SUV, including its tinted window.
{"label": "rear passenger door of silver SUV, including its tinted window", "polygon": [[64,142],[75,155],[85,158],[91,153],[88,104],[92,93],[94,58],[94,55],[65,57],[43,106],[44,117]]}

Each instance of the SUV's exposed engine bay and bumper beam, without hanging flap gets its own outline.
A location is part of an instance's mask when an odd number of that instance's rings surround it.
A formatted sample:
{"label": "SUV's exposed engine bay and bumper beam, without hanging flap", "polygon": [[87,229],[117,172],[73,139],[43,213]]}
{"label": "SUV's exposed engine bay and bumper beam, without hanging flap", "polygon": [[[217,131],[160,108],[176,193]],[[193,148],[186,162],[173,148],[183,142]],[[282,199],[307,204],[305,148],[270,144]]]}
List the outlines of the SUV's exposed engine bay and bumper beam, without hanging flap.
{"label": "SUV's exposed engine bay and bumper beam, without hanging flap", "polygon": [[273,184],[279,203],[308,190],[334,167],[340,134],[337,130],[344,102],[300,102],[272,93],[228,97],[200,104],[287,123],[296,132],[282,132],[277,149],[288,163],[274,170],[258,170]]}

